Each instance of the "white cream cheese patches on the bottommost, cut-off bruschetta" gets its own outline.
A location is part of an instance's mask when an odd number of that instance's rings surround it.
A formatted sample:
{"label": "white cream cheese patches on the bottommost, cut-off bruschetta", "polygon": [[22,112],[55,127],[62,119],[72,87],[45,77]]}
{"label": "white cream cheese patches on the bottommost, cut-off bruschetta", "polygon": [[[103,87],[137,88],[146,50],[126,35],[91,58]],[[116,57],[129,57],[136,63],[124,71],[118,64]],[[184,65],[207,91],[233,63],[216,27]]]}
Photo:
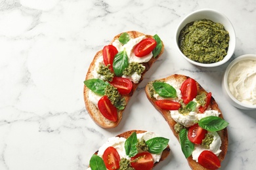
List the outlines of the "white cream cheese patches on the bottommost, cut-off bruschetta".
{"label": "white cream cheese patches on the bottommost, cut-off bruschetta", "polygon": [[[154,137],[159,137],[159,136],[156,135],[156,133],[152,133],[152,132],[148,132],[148,131],[145,132],[145,133],[137,134],[137,139],[139,139],[139,140],[144,139],[145,141],[148,141],[148,139],[152,139]],[[120,158],[126,158],[126,159],[130,160],[131,158],[129,158],[129,156],[127,156],[125,154],[125,140],[126,139],[123,138],[123,137],[110,137],[108,139],[108,141],[106,143],[104,143],[98,149],[98,156],[102,157],[102,155],[103,155],[104,151],[106,150],[106,148],[108,148],[109,146],[113,146],[114,148],[116,148]],[[154,163],[156,161],[160,161],[161,153],[160,154],[152,154]]]}

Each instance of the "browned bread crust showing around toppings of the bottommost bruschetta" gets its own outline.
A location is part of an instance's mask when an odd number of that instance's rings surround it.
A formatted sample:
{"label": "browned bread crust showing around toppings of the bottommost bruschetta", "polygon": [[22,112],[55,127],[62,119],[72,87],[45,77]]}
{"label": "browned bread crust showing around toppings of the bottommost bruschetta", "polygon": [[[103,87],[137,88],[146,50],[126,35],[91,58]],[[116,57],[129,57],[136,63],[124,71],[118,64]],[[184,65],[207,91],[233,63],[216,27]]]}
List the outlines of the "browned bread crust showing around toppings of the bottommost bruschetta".
{"label": "browned bread crust showing around toppings of the bottommost bruschetta", "polygon": [[[124,137],[125,139],[127,139],[129,136],[131,136],[131,134],[132,134],[133,132],[136,132],[137,134],[139,134],[139,133],[145,133],[146,131],[144,131],[144,130],[125,131],[125,132],[123,132],[123,133],[117,135],[116,137]],[[170,153],[170,146],[169,146],[169,144],[168,144],[167,147],[163,150],[163,152],[162,152],[162,154],[161,154],[160,161],[165,160],[165,158],[167,158],[167,156],[169,156],[169,153]],[[98,154],[98,150],[95,152],[95,154]],[[160,161],[155,162],[155,163],[154,163],[154,167],[155,167],[156,165],[158,165],[158,163],[160,163]]]}

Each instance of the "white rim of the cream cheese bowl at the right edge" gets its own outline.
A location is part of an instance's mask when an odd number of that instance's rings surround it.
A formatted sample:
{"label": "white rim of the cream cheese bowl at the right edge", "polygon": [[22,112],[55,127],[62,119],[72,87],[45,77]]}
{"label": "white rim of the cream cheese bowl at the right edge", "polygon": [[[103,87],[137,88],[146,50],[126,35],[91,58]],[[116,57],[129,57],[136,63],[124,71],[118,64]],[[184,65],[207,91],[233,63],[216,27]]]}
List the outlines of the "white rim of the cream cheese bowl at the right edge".
{"label": "white rim of the cream cheese bowl at the right edge", "polygon": [[245,107],[247,109],[256,109],[256,105],[249,105],[249,104],[246,104],[246,103],[242,103],[241,101],[236,99],[236,97],[234,97],[234,95],[232,95],[232,93],[230,92],[230,90],[228,88],[228,75],[229,75],[230,70],[232,69],[232,67],[240,61],[245,61],[245,60],[249,60],[249,59],[253,59],[253,60],[256,61],[256,54],[244,54],[242,56],[238,56],[233,61],[231,61],[228,65],[228,67],[226,67],[226,71],[224,72],[223,85],[224,85],[224,90],[228,94],[228,97],[230,97],[230,99],[232,99],[232,101],[234,101],[234,103],[236,103],[236,104],[238,104],[242,107]]}

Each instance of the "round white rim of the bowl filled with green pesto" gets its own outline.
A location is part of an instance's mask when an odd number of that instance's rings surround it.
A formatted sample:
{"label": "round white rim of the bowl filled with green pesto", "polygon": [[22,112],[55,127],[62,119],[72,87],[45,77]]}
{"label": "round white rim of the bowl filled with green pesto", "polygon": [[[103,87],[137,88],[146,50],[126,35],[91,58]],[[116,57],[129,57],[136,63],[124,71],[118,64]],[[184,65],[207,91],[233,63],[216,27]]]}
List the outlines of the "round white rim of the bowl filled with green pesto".
{"label": "round white rim of the bowl filled with green pesto", "polygon": [[[215,62],[215,63],[199,63],[197,61],[193,61],[192,59],[187,58],[180,50],[179,48],[179,34],[181,32],[181,29],[184,27],[184,21],[188,20],[188,18],[194,16],[194,14],[198,14],[198,13],[205,13],[205,12],[212,12],[215,13],[219,16],[221,16],[221,18],[223,18],[223,20],[225,20],[226,22],[223,24],[224,27],[226,25],[228,25],[228,27],[230,27],[230,30],[228,30],[228,33],[230,35],[231,40],[228,42],[228,53],[227,55],[223,58],[223,60]],[[206,18],[206,17],[205,17]],[[206,18],[207,19],[207,18]],[[214,21],[213,21],[214,22]],[[191,12],[190,14],[187,14],[182,20],[181,22],[178,24],[177,29],[175,31],[175,44],[177,46],[177,49],[179,51],[179,53],[181,54],[181,56],[183,58],[185,58],[187,61],[189,61],[190,63],[194,64],[194,65],[198,65],[201,67],[217,67],[219,65],[223,65],[224,63],[226,63],[226,61],[228,61],[234,54],[234,50],[236,48],[236,33],[234,30],[234,27],[232,25],[232,23],[230,22],[230,20],[221,12],[214,10],[214,9],[200,9],[200,10],[196,10],[194,12]]]}

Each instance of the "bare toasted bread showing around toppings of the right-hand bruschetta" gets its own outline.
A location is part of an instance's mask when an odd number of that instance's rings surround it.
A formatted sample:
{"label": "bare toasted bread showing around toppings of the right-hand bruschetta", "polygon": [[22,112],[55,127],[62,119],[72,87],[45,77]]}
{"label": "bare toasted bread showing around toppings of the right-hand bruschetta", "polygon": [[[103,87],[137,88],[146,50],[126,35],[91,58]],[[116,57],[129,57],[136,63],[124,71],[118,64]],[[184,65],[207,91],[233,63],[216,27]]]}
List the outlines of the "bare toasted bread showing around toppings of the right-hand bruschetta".
{"label": "bare toasted bread showing around toppings of the right-hand bruschetta", "polygon": [[[163,82],[167,82],[168,80],[176,80],[177,82],[179,82],[180,84],[182,84],[182,82],[184,82],[184,80],[186,80],[187,78],[190,78],[188,76],[184,76],[184,75],[171,75],[168,76],[166,78],[162,78],[160,79],[160,81]],[[177,133],[175,131],[175,124],[177,124],[177,122],[175,122],[175,120],[173,120],[173,118],[171,118],[171,114],[169,110],[163,110],[160,107],[158,107],[156,105],[156,98],[154,98],[151,94],[150,94],[150,83],[149,82],[146,85],[145,88],[145,92],[146,92],[146,96],[148,97],[148,100],[152,103],[152,105],[154,105],[154,107],[162,114],[162,116],[165,118],[166,122],[169,124],[169,127],[171,127],[171,130],[173,131],[173,134],[175,135],[175,137],[177,137],[177,139],[179,140],[179,133]],[[198,82],[196,82],[197,88],[198,88],[198,94],[200,93],[207,93],[202,86],[200,86],[200,84],[198,84]],[[221,110],[219,109],[219,106],[217,105],[215,99],[213,97],[211,97],[211,102],[209,104],[209,107],[212,110],[218,110],[221,114],[219,115],[220,118],[223,118],[223,114],[221,112]],[[228,150],[228,131],[226,128],[224,128],[221,131],[217,132],[219,134],[219,136],[221,137],[221,153],[219,154],[218,158],[220,161],[223,161],[224,156],[226,155],[226,152]],[[200,170],[205,170],[207,168],[203,167],[202,165],[200,165],[199,163],[197,163],[196,161],[194,161],[192,159],[192,156],[187,158],[188,164],[190,165],[190,167],[192,169],[200,169]]]}

